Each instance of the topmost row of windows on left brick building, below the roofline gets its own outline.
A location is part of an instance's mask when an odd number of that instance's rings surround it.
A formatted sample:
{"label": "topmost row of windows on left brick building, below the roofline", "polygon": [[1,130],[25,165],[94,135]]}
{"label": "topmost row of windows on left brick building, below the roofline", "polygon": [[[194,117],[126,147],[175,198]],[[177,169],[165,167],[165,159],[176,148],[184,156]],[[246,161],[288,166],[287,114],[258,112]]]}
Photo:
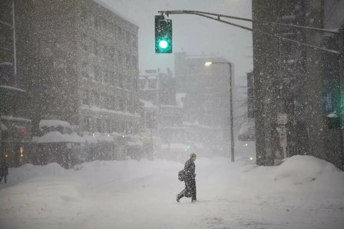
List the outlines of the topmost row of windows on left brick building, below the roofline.
{"label": "topmost row of windows on left brick building, below the roofline", "polygon": [[104,18],[101,18],[100,16],[91,13],[85,8],[81,10],[80,16],[85,21],[85,23],[94,27],[95,29],[104,33],[111,34],[118,39],[126,41],[126,43],[133,44],[137,48],[138,39],[136,34],[125,31],[116,23],[112,23]]}

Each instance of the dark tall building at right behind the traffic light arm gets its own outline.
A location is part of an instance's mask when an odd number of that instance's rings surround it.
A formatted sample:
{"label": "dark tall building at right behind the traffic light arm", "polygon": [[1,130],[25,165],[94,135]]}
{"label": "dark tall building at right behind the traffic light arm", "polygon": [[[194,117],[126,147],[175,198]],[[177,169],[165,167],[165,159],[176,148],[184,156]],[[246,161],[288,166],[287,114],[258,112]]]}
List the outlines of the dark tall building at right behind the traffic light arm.
{"label": "dark tall building at right behind the traffic light arm", "polygon": [[[323,28],[324,5],[315,0],[253,0],[252,19]],[[257,164],[272,165],[283,157],[283,147],[287,156],[307,154],[331,161],[331,145],[340,142],[331,139],[333,130],[326,125],[332,111],[323,109],[324,51],[259,31],[315,46],[323,46],[326,34],[258,22],[253,28]],[[287,115],[285,126],[278,123],[278,114]],[[287,138],[280,137],[284,127]]]}

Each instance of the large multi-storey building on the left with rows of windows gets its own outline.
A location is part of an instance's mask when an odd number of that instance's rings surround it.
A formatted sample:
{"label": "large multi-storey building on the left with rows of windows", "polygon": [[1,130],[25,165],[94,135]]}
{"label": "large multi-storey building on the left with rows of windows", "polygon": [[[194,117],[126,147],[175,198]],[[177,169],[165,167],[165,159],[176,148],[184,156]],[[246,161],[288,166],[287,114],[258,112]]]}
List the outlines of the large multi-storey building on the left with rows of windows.
{"label": "large multi-storey building on the left with rows of windows", "polygon": [[82,133],[136,134],[138,26],[92,0],[15,1],[18,76],[42,119]]}

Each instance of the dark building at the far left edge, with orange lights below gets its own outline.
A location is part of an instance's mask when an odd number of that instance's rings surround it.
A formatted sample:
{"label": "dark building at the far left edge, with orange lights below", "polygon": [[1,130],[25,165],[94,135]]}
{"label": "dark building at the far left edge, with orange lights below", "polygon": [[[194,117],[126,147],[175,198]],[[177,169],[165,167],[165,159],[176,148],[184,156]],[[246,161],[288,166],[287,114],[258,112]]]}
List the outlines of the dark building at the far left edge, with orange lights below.
{"label": "dark building at the far left edge, with orange lights below", "polygon": [[12,2],[0,2],[0,162],[7,154],[9,165],[16,167],[29,151],[31,120],[27,118],[28,92],[18,87],[15,74]]}

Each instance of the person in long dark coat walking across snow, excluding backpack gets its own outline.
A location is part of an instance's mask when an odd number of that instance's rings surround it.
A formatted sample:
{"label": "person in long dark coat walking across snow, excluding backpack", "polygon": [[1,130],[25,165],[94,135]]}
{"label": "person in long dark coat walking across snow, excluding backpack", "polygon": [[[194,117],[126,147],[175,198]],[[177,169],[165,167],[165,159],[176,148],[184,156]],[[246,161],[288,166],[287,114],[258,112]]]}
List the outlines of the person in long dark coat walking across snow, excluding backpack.
{"label": "person in long dark coat walking across snow, excluding backpack", "polygon": [[184,182],[185,182],[185,188],[183,191],[181,191],[179,194],[176,195],[176,201],[179,202],[182,197],[191,197],[191,202],[197,201],[196,198],[196,174],[195,174],[195,161],[196,160],[196,154],[191,153],[190,159],[185,162],[184,166]]}

